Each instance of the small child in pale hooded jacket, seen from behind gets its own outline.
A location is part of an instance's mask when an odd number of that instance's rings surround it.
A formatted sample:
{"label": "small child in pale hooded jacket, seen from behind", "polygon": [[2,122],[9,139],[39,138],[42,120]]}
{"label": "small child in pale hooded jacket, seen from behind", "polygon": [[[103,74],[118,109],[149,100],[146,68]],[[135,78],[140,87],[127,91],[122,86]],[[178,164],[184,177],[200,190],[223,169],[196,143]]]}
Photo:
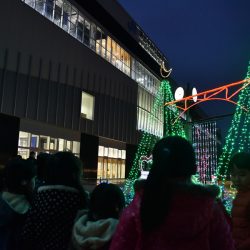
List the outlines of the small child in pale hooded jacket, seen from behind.
{"label": "small child in pale hooded jacket, seen from behind", "polygon": [[122,190],[112,183],[101,183],[90,196],[88,211],[82,211],[72,232],[72,247],[77,250],[108,250],[125,206]]}

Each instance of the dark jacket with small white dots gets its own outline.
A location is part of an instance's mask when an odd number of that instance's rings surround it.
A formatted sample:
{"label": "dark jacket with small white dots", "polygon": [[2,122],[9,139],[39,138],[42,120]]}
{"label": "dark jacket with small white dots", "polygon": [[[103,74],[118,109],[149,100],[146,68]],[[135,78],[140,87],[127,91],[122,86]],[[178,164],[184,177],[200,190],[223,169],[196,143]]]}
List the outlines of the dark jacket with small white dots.
{"label": "dark jacket with small white dots", "polygon": [[51,185],[38,188],[23,228],[23,249],[68,249],[81,201],[80,193],[72,187]]}

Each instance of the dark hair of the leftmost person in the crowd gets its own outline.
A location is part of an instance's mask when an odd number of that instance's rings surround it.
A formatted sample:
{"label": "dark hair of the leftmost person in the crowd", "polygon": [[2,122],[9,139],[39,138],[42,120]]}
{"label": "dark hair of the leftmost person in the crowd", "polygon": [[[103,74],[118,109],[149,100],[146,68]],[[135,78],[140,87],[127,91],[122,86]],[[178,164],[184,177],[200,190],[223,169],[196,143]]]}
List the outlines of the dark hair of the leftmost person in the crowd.
{"label": "dark hair of the leftmost person in the crowd", "polygon": [[35,166],[23,159],[13,159],[7,162],[3,171],[4,187],[9,192],[24,194],[25,186],[35,176]]}

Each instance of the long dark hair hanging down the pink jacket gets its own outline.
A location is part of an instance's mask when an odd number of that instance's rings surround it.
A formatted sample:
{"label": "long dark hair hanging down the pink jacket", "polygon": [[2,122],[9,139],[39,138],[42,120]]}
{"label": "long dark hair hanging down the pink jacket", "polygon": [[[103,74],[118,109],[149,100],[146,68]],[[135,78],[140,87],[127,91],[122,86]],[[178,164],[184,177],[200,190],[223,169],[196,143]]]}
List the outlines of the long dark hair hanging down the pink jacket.
{"label": "long dark hair hanging down the pink jacket", "polygon": [[153,164],[141,201],[143,230],[149,231],[160,225],[168,214],[175,179],[185,180],[195,173],[194,149],[186,139],[180,136],[169,136],[155,144]]}

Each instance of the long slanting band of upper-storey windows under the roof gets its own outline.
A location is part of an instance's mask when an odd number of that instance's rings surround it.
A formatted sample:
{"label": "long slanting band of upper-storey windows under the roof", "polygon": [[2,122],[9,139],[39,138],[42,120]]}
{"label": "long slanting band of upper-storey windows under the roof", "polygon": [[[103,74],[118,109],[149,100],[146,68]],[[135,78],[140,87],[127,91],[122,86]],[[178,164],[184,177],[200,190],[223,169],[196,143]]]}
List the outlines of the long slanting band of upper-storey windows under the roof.
{"label": "long slanting band of upper-storey windows under the roof", "polygon": [[68,34],[92,49],[149,92],[155,94],[159,80],[120,44],[67,0],[21,0]]}

